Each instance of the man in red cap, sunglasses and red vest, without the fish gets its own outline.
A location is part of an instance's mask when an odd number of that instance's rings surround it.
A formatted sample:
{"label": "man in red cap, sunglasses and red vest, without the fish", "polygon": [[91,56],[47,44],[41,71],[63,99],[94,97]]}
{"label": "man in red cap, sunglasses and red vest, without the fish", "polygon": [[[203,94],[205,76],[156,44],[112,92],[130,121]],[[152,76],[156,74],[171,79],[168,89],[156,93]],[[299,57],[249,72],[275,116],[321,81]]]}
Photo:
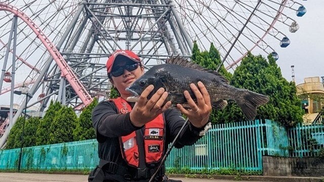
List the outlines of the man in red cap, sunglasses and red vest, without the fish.
{"label": "man in red cap, sunglasses and red vest, without the fish", "polygon": [[[149,85],[137,103],[129,103],[127,98],[131,94],[125,88],[144,74],[140,58],[131,51],[118,50],[109,57],[106,66],[110,82],[120,97],[101,102],[93,110],[100,164],[90,174],[89,181],[148,181],[185,122],[181,113],[188,117],[189,124],[180,133],[175,147],[192,145],[206,132],[212,110],[209,94],[203,83],[192,83],[197,104],[186,90],[184,96],[190,109],[179,104],[178,110],[169,109],[170,101],[163,105],[168,97],[164,88],[147,100],[154,88]],[[166,181],[164,174],[162,167],[155,181]]]}

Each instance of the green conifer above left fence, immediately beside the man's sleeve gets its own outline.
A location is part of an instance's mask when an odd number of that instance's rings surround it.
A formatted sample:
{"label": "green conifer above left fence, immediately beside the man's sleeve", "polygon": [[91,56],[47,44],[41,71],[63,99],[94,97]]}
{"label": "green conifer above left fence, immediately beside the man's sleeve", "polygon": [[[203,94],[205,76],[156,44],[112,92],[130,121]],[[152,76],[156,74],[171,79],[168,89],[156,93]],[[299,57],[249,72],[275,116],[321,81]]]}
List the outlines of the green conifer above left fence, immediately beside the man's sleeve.
{"label": "green conifer above left fence, immediately beside the man's sleeve", "polygon": [[92,126],[92,110],[98,105],[97,98],[94,98],[93,102],[89,104],[80,114],[79,119],[76,122],[76,128],[73,131],[74,141],[82,141],[88,139],[95,139],[96,132]]}

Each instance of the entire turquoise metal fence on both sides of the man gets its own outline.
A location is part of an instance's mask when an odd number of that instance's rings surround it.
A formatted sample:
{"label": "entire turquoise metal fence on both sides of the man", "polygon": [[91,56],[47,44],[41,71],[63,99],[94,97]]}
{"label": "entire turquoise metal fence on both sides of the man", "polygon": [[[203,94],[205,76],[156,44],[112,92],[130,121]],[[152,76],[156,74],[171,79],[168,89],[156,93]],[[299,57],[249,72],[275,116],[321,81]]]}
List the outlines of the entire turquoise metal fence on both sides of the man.
{"label": "entire turquoise metal fence on both sides of the man", "polygon": [[[324,125],[298,125],[287,131],[270,120],[217,124],[194,145],[173,149],[166,168],[260,171],[263,155],[308,157],[323,144]],[[17,169],[19,151],[0,150],[0,169]],[[21,169],[82,170],[98,162],[98,143],[87,140],[23,148]]]}

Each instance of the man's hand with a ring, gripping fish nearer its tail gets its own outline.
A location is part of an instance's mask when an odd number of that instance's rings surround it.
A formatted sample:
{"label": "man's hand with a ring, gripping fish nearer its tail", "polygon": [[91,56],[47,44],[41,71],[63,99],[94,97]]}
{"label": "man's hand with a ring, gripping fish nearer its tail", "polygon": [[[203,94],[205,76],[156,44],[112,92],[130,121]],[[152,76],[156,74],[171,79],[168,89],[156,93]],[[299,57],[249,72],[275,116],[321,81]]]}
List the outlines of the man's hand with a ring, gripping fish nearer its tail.
{"label": "man's hand with a ring, gripping fish nearer its tail", "polygon": [[188,120],[197,128],[201,128],[207,124],[209,116],[212,112],[211,99],[208,94],[208,91],[203,82],[198,81],[198,87],[191,83],[190,88],[197,98],[197,104],[194,103],[190,94],[187,90],[184,92],[184,96],[187,99],[189,110],[186,110],[182,105],[177,104],[177,108],[182,114],[185,114],[188,117]]}

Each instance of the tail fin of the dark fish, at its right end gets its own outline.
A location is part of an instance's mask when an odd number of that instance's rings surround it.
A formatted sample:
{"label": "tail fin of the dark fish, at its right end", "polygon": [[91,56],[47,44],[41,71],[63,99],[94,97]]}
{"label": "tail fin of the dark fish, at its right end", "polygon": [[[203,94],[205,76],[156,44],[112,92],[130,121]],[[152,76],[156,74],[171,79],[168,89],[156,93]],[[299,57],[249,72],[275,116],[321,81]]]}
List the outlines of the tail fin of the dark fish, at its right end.
{"label": "tail fin of the dark fish, at its right end", "polygon": [[237,105],[241,108],[248,120],[254,120],[257,115],[257,107],[269,101],[267,96],[242,89],[242,95],[238,99]]}

